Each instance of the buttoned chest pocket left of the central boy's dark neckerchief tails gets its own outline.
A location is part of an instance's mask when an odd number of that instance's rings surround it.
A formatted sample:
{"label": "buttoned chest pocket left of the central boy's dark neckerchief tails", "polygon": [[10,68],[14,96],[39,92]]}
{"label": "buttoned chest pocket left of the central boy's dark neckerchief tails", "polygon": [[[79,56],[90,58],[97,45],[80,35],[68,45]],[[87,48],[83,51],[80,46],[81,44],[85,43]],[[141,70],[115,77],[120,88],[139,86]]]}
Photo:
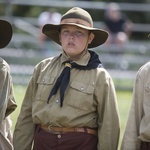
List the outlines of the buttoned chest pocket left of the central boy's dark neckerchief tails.
{"label": "buttoned chest pocket left of the central boy's dark neckerchief tails", "polygon": [[38,88],[36,93],[36,99],[47,101],[50,91],[54,85],[55,77],[52,76],[39,76],[37,80]]}

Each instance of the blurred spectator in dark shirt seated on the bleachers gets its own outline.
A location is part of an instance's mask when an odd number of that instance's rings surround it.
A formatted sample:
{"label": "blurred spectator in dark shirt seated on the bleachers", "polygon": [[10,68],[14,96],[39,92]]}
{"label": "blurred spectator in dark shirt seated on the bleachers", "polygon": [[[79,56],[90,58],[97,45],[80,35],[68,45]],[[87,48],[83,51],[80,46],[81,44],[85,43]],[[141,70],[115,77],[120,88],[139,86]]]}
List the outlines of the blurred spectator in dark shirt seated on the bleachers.
{"label": "blurred spectator in dark shirt seated on the bleachers", "polygon": [[104,16],[105,29],[109,32],[106,44],[124,45],[132,32],[132,22],[123,14],[117,3],[109,3],[106,6]]}

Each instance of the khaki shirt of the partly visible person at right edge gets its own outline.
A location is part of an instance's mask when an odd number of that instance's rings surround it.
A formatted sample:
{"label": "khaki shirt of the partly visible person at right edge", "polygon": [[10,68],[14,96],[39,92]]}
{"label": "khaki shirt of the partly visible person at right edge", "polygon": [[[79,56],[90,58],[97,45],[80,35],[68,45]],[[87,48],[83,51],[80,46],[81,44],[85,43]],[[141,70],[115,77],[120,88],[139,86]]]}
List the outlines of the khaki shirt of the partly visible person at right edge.
{"label": "khaki shirt of the partly visible person at right edge", "polygon": [[137,72],[122,150],[139,150],[141,141],[150,142],[150,62]]}

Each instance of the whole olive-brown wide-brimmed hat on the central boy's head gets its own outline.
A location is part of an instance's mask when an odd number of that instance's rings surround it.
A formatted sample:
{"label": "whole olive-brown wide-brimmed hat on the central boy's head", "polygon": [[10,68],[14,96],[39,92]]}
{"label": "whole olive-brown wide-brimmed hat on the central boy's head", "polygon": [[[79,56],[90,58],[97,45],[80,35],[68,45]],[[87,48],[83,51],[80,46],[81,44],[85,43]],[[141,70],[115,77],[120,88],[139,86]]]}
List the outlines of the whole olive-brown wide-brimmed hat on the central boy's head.
{"label": "whole olive-brown wide-brimmed hat on the central boy's head", "polygon": [[88,45],[89,48],[102,45],[108,38],[107,31],[93,27],[91,15],[82,8],[74,7],[67,11],[61,18],[60,24],[46,24],[43,26],[42,32],[53,41],[61,45],[59,39],[60,29],[63,25],[75,25],[80,28],[91,31],[95,37]]}

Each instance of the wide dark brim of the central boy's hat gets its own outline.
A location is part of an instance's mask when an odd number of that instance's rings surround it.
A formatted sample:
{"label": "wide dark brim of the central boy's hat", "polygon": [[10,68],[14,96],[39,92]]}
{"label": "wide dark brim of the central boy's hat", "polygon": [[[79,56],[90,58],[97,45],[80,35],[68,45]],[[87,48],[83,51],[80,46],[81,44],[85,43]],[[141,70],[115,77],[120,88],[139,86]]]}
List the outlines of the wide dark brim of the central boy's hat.
{"label": "wide dark brim of the central boy's hat", "polygon": [[86,26],[76,24],[76,23],[67,23],[67,24],[59,24],[59,25],[46,24],[43,26],[42,32],[47,37],[51,38],[53,41],[55,41],[56,43],[61,45],[60,39],[59,39],[59,33],[60,33],[60,29],[63,25],[75,25],[80,28],[91,31],[95,35],[95,37],[94,37],[93,41],[88,45],[88,48],[94,48],[99,45],[102,45],[103,43],[105,43],[105,41],[108,38],[108,32],[106,32],[105,30],[98,29],[98,28],[86,27]]}

